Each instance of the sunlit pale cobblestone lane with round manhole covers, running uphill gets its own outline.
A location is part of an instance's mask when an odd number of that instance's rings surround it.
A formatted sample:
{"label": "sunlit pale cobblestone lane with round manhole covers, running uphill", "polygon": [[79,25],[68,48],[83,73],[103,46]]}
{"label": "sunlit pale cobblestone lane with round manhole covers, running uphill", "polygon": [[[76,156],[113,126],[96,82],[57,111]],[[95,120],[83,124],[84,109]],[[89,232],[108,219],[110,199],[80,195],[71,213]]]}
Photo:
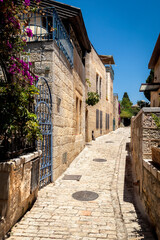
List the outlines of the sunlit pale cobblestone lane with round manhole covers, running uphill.
{"label": "sunlit pale cobblestone lane with round manhole covers, running uphill", "polygon": [[[63,180],[63,174],[55,184],[43,188],[8,239],[153,240],[133,204],[126,150],[129,135],[130,128],[120,128],[87,144],[64,173],[82,175],[80,181]],[[99,197],[79,201],[72,197],[77,191],[93,191]]]}

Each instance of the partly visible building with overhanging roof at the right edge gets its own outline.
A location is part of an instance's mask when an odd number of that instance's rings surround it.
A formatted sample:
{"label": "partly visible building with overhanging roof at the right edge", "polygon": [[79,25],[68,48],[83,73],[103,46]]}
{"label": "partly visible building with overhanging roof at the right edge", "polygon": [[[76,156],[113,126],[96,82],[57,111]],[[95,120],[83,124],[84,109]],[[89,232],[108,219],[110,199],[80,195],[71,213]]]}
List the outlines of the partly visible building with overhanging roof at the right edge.
{"label": "partly visible building with overhanging roof at the right edge", "polygon": [[148,68],[154,70],[154,80],[152,83],[142,84],[140,92],[149,91],[151,96],[150,106],[160,107],[160,35],[154,47]]}

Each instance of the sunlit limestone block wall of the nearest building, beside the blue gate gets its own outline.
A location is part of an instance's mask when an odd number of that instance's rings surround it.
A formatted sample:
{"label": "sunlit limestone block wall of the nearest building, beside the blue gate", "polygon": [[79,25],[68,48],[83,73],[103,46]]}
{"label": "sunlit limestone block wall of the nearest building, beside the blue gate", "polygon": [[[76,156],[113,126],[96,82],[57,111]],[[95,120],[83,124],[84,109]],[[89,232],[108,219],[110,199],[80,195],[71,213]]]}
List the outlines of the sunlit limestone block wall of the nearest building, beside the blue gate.
{"label": "sunlit limestone block wall of the nearest building, beside the blue gate", "polygon": [[[74,48],[74,66],[54,41],[28,44],[30,61],[44,76],[52,94],[53,179],[57,179],[85,145],[85,69]],[[76,97],[81,101],[81,133],[77,134]]]}

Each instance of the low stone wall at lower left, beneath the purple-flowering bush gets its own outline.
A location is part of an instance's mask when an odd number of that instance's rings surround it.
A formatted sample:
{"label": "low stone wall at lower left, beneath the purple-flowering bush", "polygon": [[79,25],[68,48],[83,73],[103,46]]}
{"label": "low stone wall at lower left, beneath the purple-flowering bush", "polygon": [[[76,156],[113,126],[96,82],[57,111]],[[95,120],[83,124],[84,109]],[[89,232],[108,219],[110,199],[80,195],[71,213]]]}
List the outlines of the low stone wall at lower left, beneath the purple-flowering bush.
{"label": "low stone wall at lower left, beneath the purple-flowering bush", "polygon": [[37,198],[40,154],[34,152],[0,163],[0,239]]}

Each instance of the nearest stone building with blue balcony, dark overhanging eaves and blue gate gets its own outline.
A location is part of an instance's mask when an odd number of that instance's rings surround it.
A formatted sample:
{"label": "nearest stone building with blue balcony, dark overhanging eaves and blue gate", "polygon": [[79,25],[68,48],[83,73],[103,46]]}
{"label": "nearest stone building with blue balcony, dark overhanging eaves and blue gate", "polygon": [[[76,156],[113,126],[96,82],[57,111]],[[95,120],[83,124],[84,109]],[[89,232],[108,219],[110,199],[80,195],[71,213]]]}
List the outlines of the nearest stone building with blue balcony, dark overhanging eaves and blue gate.
{"label": "nearest stone building with blue balcony, dark overhanging eaves and blue gate", "polygon": [[41,76],[36,109],[43,132],[43,186],[85,146],[84,56],[91,46],[80,9],[55,1],[40,6],[43,10],[32,15],[27,50],[32,70]]}

